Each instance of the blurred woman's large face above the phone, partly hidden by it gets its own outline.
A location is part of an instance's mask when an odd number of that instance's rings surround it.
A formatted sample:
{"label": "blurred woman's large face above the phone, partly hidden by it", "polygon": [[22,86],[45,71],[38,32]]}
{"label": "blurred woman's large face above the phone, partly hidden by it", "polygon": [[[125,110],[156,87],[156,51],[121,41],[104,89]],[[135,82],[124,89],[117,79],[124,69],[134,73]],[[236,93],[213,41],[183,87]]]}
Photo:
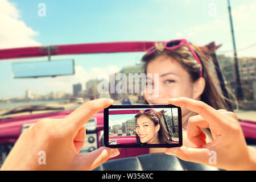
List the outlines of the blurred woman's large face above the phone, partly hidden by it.
{"label": "blurred woman's large face above the phone, partly hidden by it", "polygon": [[[150,93],[147,90],[144,95],[149,104],[168,104],[170,98],[194,97],[194,85],[189,74],[175,59],[166,55],[158,56],[147,65],[147,73],[152,74],[151,79],[147,79],[147,83],[150,84],[152,80],[153,86],[157,81],[154,80],[154,74],[159,74],[158,98],[150,100]],[[183,115],[188,112],[187,109],[182,108]]]}

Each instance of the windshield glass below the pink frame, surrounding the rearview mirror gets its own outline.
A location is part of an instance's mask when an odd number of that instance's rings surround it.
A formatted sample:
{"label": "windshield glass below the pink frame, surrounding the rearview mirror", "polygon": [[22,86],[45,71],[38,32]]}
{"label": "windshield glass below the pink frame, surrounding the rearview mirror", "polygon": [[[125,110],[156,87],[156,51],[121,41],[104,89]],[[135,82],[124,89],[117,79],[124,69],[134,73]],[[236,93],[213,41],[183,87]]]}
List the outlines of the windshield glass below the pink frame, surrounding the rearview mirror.
{"label": "windshield glass below the pink frame, surrounding the rearview mirror", "polygon": [[[35,105],[61,106],[65,110],[73,110],[83,102],[100,97],[115,98],[115,104],[122,104],[123,94],[109,94],[105,92],[104,89],[108,88],[104,86],[100,92],[97,85],[103,78],[115,73],[133,73],[133,69],[135,72],[142,73],[138,64],[142,55],[143,52],[52,56],[52,60],[74,59],[75,75],[40,78],[13,78],[12,64],[19,61],[46,60],[45,57],[3,60],[0,68],[1,80],[8,84],[3,84],[5,86],[1,89],[1,113],[16,107]],[[138,100],[137,96],[133,95],[129,98],[133,103]]]}

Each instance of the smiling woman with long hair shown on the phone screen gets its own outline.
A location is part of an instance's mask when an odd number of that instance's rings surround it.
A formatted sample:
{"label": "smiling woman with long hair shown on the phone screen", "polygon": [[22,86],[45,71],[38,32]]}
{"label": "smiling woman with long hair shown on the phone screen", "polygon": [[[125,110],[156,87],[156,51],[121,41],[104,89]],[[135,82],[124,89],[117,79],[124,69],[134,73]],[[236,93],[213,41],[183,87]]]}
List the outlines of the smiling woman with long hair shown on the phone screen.
{"label": "smiling woman with long hair shown on the phone screen", "polygon": [[135,115],[137,144],[167,144],[171,143],[171,133],[163,124],[161,112],[153,109],[141,110]]}

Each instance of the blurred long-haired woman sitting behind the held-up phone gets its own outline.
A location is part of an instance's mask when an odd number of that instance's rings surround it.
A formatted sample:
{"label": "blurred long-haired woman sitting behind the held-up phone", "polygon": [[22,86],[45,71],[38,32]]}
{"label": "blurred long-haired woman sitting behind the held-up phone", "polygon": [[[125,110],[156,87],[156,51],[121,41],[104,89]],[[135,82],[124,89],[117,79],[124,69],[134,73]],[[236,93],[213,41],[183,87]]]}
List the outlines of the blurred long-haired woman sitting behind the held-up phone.
{"label": "blurred long-haired woman sitting behind the held-up phone", "polygon": [[[188,43],[185,39],[156,43],[154,47],[149,48],[142,57],[144,72],[146,75],[148,73],[152,75],[152,77],[147,77],[147,84],[155,85],[154,82],[158,81],[156,89],[159,90],[159,94],[158,98],[152,100],[150,96],[155,93],[146,90],[145,104],[168,104],[170,98],[188,97],[203,101],[214,109],[229,110],[225,103],[226,98],[217,89],[216,81],[209,71],[208,55],[210,53],[201,52],[199,47]],[[154,80],[154,74],[159,74],[159,80]],[[189,118],[196,113],[185,107],[181,107],[181,113],[183,144],[192,147],[193,144],[186,138],[186,130]],[[211,141],[210,131],[203,131],[207,141]]]}

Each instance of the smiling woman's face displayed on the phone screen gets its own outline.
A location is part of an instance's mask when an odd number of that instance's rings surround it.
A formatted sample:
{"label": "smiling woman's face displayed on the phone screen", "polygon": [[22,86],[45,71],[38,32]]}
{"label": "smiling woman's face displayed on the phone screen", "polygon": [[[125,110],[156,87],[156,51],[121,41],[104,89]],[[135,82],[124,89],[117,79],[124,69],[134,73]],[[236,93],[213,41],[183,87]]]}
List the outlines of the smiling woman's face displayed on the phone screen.
{"label": "smiling woman's face displayed on the phone screen", "polygon": [[156,142],[158,129],[150,118],[146,115],[141,115],[137,118],[136,133],[141,143],[150,144]]}

